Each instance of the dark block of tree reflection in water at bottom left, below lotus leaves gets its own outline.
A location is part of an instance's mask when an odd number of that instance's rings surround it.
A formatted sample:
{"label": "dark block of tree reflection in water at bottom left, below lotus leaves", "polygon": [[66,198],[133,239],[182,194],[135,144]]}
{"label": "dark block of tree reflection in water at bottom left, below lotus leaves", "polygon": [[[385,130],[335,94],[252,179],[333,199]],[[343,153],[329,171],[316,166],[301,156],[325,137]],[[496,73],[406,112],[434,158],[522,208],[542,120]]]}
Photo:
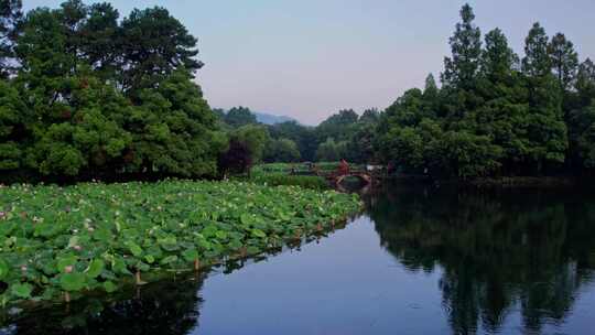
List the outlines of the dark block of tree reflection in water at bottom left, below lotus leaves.
{"label": "dark block of tree reflection in water at bottom left, below lotus leaves", "polygon": [[112,301],[40,309],[17,318],[9,334],[187,334],[198,326],[202,285],[202,277],[185,278],[133,288]]}

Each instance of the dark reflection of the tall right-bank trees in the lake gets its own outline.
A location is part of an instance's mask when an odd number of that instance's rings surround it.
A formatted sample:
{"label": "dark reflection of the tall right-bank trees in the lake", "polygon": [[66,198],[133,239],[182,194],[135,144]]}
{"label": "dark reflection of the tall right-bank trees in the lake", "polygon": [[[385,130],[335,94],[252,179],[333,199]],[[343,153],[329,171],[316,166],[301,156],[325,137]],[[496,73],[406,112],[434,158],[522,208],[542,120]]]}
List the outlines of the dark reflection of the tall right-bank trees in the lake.
{"label": "dark reflection of the tall right-bank trees in the lake", "polygon": [[382,245],[411,271],[443,269],[455,333],[560,322],[595,268],[595,199],[554,193],[397,188],[368,198]]}

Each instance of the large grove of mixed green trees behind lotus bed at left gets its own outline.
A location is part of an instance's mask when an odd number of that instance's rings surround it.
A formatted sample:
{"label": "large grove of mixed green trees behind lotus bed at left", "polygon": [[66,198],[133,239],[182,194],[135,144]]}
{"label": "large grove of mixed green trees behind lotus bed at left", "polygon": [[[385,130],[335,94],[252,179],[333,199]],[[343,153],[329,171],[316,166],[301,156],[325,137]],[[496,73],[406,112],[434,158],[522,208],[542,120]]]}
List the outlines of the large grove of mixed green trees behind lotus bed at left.
{"label": "large grove of mixed green trees behind lotus bed at left", "polygon": [[19,72],[0,83],[3,177],[218,174],[227,138],[193,82],[196,39],[165,9],[120,21],[108,3],[69,0],[19,28]]}

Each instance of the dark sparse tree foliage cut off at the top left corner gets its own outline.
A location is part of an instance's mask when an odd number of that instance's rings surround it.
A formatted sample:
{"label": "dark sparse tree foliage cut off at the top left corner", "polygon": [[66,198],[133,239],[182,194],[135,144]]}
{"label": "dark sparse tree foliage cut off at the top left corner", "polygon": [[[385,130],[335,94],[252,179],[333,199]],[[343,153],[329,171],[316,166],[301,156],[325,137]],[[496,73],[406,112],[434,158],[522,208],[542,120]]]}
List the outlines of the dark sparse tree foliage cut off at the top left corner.
{"label": "dark sparse tree foliage cut off at the top left corner", "polygon": [[22,19],[22,0],[0,0],[0,78],[13,73],[14,41]]}

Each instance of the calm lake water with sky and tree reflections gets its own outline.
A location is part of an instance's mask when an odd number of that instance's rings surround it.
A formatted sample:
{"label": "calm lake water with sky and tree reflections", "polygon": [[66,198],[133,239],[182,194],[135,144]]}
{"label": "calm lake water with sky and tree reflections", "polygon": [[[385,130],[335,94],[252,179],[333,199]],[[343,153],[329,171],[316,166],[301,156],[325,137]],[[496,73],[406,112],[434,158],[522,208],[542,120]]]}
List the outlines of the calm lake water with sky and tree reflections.
{"label": "calm lake water with sky and tree reflections", "polygon": [[595,196],[388,186],[345,228],[0,334],[595,334]]}

